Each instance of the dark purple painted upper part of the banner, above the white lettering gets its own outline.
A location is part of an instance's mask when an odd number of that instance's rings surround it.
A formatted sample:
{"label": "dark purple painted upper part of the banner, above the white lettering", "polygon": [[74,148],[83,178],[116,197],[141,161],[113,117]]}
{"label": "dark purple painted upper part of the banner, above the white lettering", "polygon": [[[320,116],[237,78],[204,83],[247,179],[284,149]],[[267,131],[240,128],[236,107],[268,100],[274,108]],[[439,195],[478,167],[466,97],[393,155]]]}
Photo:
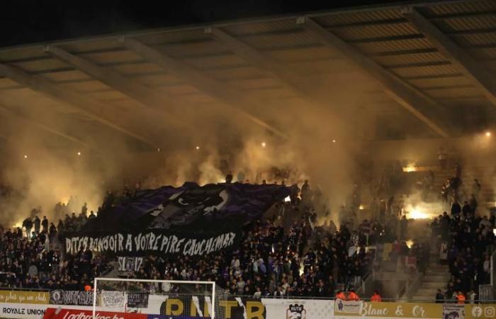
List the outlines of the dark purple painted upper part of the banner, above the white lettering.
{"label": "dark purple painted upper part of the banner, above the white lettering", "polygon": [[232,228],[259,218],[274,203],[289,196],[291,191],[291,187],[274,184],[198,186],[196,183],[185,183],[180,187],[163,186],[139,191],[128,203],[109,208],[88,223],[86,230],[171,229],[197,232],[205,230],[208,223]]}

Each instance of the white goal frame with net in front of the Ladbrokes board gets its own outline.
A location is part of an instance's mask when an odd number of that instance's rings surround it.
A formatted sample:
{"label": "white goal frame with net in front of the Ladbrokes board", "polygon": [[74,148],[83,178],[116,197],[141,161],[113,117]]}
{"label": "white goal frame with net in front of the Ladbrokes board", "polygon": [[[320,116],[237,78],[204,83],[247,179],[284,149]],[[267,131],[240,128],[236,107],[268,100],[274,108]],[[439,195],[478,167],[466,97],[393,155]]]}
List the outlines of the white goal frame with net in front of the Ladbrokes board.
{"label": "white goal frame with net in front of the Ladbrokes board", "polygon": [[[213,281],[95,278],[93,318],[225,318],[225,292]],[[107,315],[105,315],[107,316]],[[112,315],[111,318],[114,318]]]}

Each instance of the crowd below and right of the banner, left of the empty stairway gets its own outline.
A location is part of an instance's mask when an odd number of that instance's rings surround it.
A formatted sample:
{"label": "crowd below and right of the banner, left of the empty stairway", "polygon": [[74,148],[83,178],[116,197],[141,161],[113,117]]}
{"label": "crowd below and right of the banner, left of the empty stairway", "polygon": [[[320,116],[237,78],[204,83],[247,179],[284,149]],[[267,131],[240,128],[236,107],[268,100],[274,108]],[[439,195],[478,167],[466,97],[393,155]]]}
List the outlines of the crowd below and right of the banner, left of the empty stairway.
{"label": "crowd below and right of the banner, left of the empty stairway", "polygon": [[[353,198],[359,198],[355,188]],[[359,220],[359,200],[339,212],[340,228],[327,221],[317,225],[319,193],[308,181],[298,199],[280,203],[278,215],[257,220],[244,230],[238,250],[212,258],[148,257],[135,274],[140,279],[215,280],[231,294],[249,296],[333,297],[337,289],[354,289],[371,272],[375,252],[368,248],[390,242],[392,259],[413,257],[414,268],[429,262],[429,247],[416,240],[406,245],[407,219],[385,210],[382,220]],[[319,216],[327,217],[322,208]],[[286,227],[284,220],[293,218]],[[405,264],[405,262],[403,262]],[[338,288],[339,287],[339,288]],[[157,287],[156,289],[169,289]]]}

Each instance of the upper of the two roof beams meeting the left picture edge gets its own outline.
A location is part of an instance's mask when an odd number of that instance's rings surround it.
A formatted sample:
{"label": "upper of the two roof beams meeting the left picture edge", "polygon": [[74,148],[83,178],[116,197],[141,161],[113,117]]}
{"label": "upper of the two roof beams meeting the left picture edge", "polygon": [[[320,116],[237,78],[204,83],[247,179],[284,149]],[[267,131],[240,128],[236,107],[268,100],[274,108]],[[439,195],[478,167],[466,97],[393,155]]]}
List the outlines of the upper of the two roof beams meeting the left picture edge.
{"label": "upper of the two roof beams meeting the left picture edge", "polygon": [[125,128],[122,125],[116,124],[111,119],[112,116],[101,115],[101,111],[106,109],[105,103],[95,101],[94,99],[89,99],[88,97],[69,89],[61,89],[47,79],[29,74],[28,72],[12,67],[11,65],[0,63],[0,74],[13,80],[14,82],[17,82],[18,84],[32,89],[33,91],[38,91],[46,96],[50,96],[52,99],[57,99],[68,103],[72,106],[72,108],[79,111],[79,113],[83,113],[88,118],[106,125],[109,128],[113,128],[113,130],[117,130],[118,132],[128,135],[131,138],[140,140],[146,145],[154,147],[154,149],[157,148],[157,143],[152,142],[150,138],[135,133],[133,130]]}

